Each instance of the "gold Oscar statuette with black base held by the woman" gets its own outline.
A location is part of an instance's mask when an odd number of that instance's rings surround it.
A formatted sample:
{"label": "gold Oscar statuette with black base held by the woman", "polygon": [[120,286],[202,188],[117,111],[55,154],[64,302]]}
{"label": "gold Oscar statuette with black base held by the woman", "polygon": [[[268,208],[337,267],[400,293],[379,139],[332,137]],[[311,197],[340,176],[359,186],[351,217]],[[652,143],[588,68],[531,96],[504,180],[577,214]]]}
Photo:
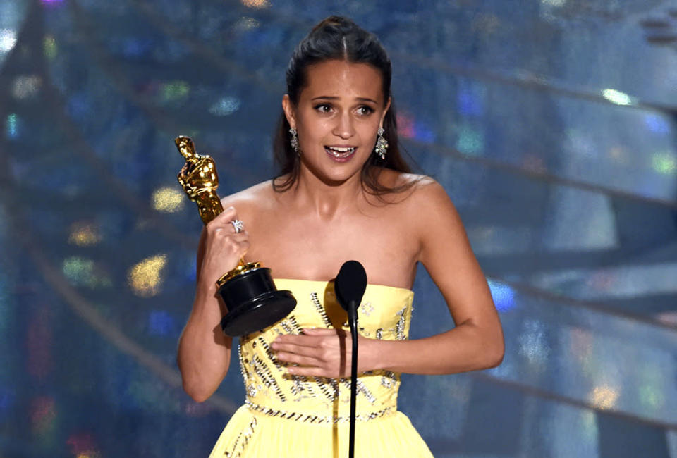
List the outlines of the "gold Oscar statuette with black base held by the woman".
{"label": "gold Oscar statuette with black base held by the woman", "polygon": [[[209,223],[224,211],[216,195],[219,177],[211,156],[197,154],[190,137],[181,135],[174,140],[185,165],[176,175],[188,199],[197,204],[202,223]],[[232,271],[224,273],[216,287],[224,299],[228,313],[221,320],[224,334],[245,335],[262,330],[287,316],[296,299],[290,291],[276,290],[270,269],[258,262],[245,263],[243,259]]]}

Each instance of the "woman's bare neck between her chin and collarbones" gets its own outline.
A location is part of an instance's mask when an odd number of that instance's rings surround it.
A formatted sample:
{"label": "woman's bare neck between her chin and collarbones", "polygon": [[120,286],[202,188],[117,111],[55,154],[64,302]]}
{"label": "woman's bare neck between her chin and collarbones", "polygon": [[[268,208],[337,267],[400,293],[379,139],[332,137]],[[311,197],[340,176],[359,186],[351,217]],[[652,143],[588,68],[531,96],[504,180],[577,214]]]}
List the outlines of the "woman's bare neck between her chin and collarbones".
{"label": "woman's bare neck between her chin and collarbones", "polygon": [[364,199],[360,173],[342,182],[329,182],[320,180],[303,165],[293,192],[299,206],[323,219],[355,209]]}

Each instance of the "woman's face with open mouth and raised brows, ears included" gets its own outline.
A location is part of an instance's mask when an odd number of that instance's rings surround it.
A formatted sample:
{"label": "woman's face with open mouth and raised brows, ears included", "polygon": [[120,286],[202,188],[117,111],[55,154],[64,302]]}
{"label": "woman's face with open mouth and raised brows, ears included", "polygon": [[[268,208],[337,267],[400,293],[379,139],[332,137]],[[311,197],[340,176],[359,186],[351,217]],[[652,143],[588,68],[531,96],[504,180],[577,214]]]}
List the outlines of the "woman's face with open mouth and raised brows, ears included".
{"label": "woman's face with open mouth and raised brows, ears included", "polygon": [[366,63],[317,63],[307,68],[306,81],[298,104],[285,95],[282,106],[298,131],[303,165],[337,185],[359,175],[373,154],[390,101],[384,101],[381,73]]}

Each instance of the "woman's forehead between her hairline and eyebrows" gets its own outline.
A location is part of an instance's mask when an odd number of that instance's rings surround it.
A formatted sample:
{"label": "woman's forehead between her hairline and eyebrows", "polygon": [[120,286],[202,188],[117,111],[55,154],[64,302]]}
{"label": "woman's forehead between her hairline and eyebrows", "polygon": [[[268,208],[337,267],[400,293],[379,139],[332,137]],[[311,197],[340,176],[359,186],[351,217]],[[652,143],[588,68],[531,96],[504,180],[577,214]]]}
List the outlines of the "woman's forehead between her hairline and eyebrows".
{"label": "woman's forehead between her hairline and eyebrows", "polygon": [[368,63],[347,61],[324,61],[308,66],[306,86],[301,98],[358,97],[382,101],[383,87],[381,72]]}

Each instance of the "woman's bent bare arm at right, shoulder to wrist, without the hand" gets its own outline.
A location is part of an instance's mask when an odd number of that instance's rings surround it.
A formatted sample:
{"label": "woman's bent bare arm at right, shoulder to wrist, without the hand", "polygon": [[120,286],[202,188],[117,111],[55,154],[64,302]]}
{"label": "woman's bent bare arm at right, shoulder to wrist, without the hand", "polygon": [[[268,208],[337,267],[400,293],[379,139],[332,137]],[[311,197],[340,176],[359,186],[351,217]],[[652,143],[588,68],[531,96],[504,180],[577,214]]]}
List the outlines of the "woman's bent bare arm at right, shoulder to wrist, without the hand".
{"label": "woman's bent bare arm at right, shoulder to wrist, without the hand", "polygon": [[444,189],[432,182],[417,199],[419,260],[444,295],[456,328],[429,338],[367,344],[374,369],[408,373],[457,373],[498,366],[503,331],[487,280],[472,254],[463,223]]}

